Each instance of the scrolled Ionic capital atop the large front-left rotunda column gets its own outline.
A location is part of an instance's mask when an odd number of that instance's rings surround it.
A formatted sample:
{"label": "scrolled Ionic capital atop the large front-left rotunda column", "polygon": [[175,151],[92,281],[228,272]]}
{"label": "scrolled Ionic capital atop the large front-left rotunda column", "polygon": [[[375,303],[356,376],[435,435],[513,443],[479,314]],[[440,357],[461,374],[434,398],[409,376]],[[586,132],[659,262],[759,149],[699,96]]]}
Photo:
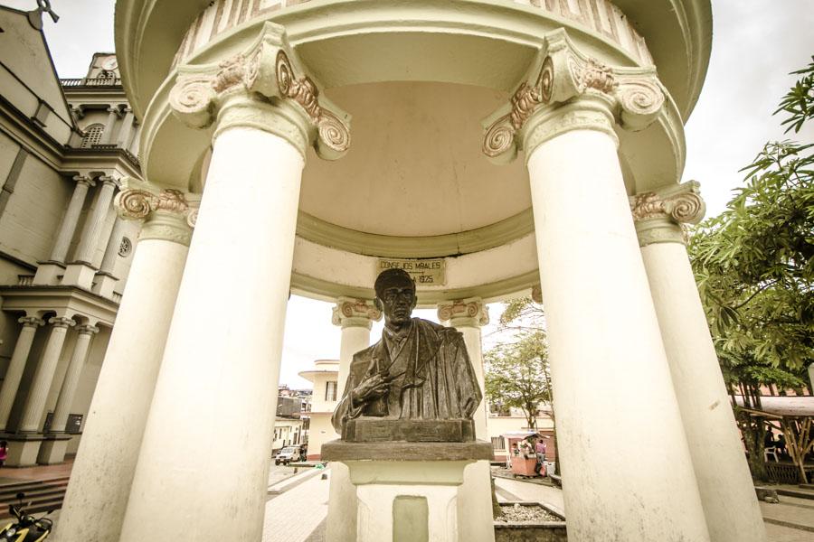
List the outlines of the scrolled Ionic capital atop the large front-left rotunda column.
{"label": "scrolled Ionic capital atop the large front-left rotunda column", "polygon": [[258,40],[231,59],[178,72],[169,101],[187,126],[215,125],[213,137],[254,127],[286,139],[303,157],[308,145],[328,160],[350,146],[350,116],[320,96],[279,24],[265,23]]}

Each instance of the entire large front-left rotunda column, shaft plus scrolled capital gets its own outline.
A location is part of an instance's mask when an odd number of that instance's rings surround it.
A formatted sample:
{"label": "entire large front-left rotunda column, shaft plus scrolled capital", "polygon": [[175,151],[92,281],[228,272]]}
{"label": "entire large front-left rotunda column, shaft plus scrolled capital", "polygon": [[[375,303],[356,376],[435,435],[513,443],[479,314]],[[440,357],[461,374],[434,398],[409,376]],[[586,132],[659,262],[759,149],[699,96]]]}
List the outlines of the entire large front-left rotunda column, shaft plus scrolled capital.
{"label": "entire large front-left rotunda column, shaft plus scrolled capital", "polygon": [[[120,542],[262,536],[302,169],[350,136],[285,29],[258,43],[169,94],[187,126],[214,125],[213,154]],[[202,453],[213,441],[228,453]]]}

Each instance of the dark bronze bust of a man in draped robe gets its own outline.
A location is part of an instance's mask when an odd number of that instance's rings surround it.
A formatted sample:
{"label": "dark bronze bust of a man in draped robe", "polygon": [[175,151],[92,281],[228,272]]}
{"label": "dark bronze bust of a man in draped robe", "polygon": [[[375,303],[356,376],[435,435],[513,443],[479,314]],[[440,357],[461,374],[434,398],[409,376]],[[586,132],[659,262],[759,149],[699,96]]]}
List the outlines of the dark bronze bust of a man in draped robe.
{"label": "dark bronze bust of a man in draped robe", "polygon": [[470,441],[482,394],[463,336],[412,318],[415,283],[387,269],[374,285],[382,339],[356,352],[332,422],[347,441]]}

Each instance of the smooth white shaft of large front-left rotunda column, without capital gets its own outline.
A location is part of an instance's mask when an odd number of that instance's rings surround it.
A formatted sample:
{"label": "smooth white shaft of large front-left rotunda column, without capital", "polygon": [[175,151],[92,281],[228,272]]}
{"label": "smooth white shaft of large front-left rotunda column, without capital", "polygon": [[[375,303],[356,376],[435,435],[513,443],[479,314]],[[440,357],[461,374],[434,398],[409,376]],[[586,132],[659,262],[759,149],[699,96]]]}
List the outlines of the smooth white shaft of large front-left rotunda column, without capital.
{"label": "smooth white shaft of large front-left rotunda column, without capital", "polygon": [[303,165],[255,128],[215,140],[122,542],[260,540]]}

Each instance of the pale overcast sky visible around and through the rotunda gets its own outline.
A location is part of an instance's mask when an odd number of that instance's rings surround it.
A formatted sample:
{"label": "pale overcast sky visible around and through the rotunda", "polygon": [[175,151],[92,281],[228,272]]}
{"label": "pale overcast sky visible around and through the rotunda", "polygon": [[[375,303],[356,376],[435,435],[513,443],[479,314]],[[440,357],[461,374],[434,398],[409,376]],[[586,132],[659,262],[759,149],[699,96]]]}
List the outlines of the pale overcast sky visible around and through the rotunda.
{"label": "pale overcast sky visible around and through the rotunda", "polygon": [[[0,0],[29,10],[35,0]],[[112,0],[52,0],[60,15],[46,16],[45,35],[62,78],[82,77],[95,51],[113,51]],[[794,77],[814,54],[814,0],[713,2],[712,58],[704,90],[686,124],[687,161],[684,180],[701,182],[707,216],[718,214],[732,190],[742,185],[738,170],[749,164],[767,139],[795,137],[814,141],[814,126],[805,134],[783,135],[780,118],[771,117]],[[491,307],[497,320],[500,305]],[[434,311],[418,311],[436,320]],[[336,358],[339,329],[331,325],[331,305],[293,296],[286,320],[280,383],[310,388],[297,376],[313,360]],[[381,333],[381,322],[373,336]],[[488,326],[485,332],[494,329]],[[490,339],[487,338],[487,345]]]}

